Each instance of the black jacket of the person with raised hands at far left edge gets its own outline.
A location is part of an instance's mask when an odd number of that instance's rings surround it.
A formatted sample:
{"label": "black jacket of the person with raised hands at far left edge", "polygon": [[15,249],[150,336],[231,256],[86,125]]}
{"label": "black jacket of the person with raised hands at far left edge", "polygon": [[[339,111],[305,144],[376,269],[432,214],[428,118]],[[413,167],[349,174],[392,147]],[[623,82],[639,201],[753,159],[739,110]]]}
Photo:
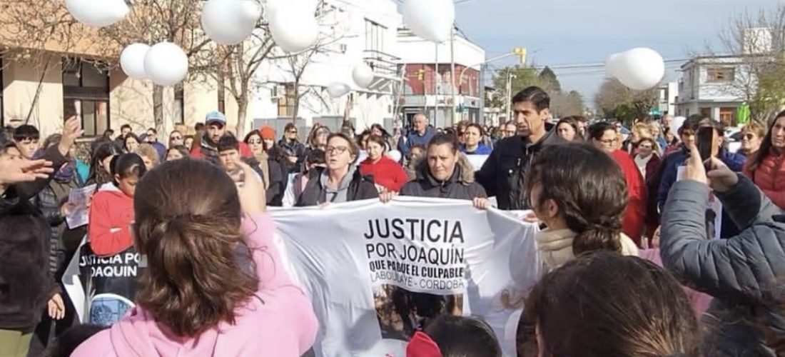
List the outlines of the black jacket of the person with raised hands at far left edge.
{"label": "black jacket of the person with raised hands at far left edge", "polygon": [[[60,167],[57,145],[43,156]],[[49,271],[49,222],[31,199],[49,179],[11,185],[0,198],[0,329],[31,330],[59,288]]]}

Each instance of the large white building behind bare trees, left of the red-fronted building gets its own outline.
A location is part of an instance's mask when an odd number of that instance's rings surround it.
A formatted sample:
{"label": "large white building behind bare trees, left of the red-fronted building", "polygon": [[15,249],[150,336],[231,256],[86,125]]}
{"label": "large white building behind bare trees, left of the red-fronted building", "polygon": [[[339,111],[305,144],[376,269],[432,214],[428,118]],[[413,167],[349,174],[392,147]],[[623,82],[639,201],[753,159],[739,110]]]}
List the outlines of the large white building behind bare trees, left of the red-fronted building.
{"label": "large white building behind bare trees, left of the red-fronted building", "polygon": [[[301,72],[298,93],[302,95],[297,112],[301,132],[319,122],[340,129],[349,98],[349,117],[358,131],[371,124],[392,127],[395,112],[394,94],[400,88],[396,32],[402,20],[392,0],[324,0],[319,16],[319,49],[306,50],[298,60],[274,60],[257,71],[254,98],[249,118],[254,127],[271,125],[282,133],[292,121],[294,111],[294,75]],[[352,80],[356,65],[367,63],[374,68],[374,82],[361,89]],[[352,93],[334,99],[327,93],[331,83],[349,85]],[[302,137],[303,135],[301,135]]]}

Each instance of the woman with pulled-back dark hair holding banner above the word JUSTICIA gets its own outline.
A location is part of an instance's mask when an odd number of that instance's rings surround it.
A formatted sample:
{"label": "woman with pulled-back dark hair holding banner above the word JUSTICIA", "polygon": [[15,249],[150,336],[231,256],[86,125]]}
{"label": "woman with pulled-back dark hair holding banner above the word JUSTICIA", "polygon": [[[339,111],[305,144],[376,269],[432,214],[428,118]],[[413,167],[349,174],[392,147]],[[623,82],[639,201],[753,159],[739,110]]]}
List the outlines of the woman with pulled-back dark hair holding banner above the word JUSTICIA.
{"label": "woman with pulled-back dark hair holding banner above the word JUSTICIA", "polygon": [[[437,199],[468,199],[480,209],[487,207],[487,195],[482,185],[474,180],[474,169],[469,159],[458,149],[455,135],[438,133],[429,141],[425,157],[417,164],[417,177],[403,185],[405,196]],[[391,196],[382,197],[382,202]]]}

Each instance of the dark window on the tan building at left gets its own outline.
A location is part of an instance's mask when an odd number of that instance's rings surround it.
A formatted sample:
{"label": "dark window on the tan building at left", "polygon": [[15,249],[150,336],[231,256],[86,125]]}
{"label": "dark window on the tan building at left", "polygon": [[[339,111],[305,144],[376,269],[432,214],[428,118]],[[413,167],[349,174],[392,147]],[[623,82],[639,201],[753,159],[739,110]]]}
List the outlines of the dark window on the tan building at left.
{"label": "dark window on the tan building at left", "polygon": [[109,69],[106,64],[66,58],[63,60],[63,118],[82,118],[85,135],[109,129]]}

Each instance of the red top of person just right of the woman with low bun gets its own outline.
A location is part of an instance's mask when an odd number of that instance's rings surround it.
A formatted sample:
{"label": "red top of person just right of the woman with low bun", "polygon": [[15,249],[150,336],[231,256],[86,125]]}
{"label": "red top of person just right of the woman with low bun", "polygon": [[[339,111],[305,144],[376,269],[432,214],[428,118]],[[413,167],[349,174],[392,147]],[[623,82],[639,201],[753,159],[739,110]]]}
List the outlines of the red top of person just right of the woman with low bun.
{"label": "red top of person just right of the woman with low bun", "polygon": [[630,193],[630,204],[624,213],[622,231],[640,247],[641,234],[646,221],[646,183],[630,154],[616,150],[611,156],[621,166],[624,179],[627,181],[627,191]]}

